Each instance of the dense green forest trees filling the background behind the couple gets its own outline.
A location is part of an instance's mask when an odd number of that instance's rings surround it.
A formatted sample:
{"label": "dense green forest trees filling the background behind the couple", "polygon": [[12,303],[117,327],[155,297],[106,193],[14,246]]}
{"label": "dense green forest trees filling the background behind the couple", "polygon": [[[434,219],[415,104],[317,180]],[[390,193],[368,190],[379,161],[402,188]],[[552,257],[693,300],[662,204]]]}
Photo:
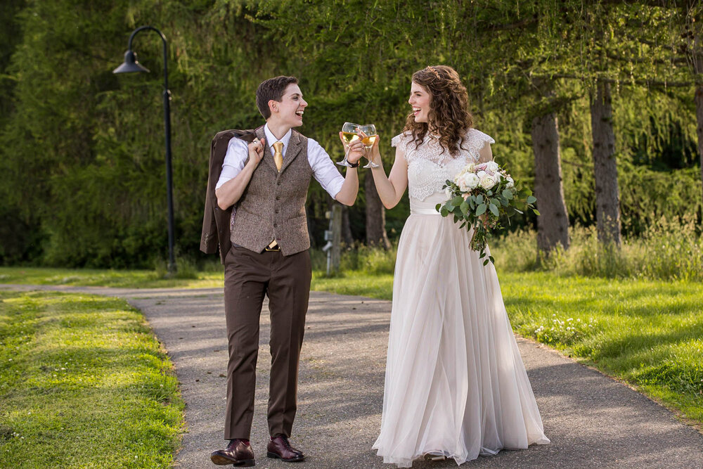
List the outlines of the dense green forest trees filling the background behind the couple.
{"label": "dense green forest trees filling the background behind the couple", "polygon": [[[167,257],[160,39],[134,41],[152,73],[112,74],[141,25],[169,40],[179,257],[205,259],[209,143],[262,123],[259,82],[299,77],[301,131],[333,160],[344,121],[376,124],[388,170],[411,75],[436,64],[458,70],[496,160],[536,189],[542,216],[511,227],[538,230],[530,249],[568,248],[579,226],[619,245],[663,219],[699,239],[702,10],[690,0],[6,0],[0,263],[151,267]],[[367,176],[344,210],[344,240],[387,248],[407,196],[385,211]],[[332,203],[311,185],[316,247]]]}

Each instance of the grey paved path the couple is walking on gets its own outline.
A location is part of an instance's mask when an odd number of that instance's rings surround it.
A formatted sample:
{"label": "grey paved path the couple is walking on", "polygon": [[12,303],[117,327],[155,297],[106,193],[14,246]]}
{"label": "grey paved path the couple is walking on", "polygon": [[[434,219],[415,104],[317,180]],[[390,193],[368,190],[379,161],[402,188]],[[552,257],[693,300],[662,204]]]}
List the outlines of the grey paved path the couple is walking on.
{"label": "grey paved path the couple is walking on", "polygon": [[[176,467],[214,468],[209,453],[224,444],[227,341],[221,290],[49,288],[123,297],[146,314],[176,366],[187,403],[188,432]],[[292,436],[307,461],[297,464],[265,457],[267,311],[264,305],[252,433],[257,468],[389,469],[370,446],[380,426],[390,302],[311,294]],[[518,345],[552,443],[482,456],[466,467],[703,468],[703,435],[662,406],[546,347],[524,339],[518,339]],[[456,463],[413,465],[451,467]]]}

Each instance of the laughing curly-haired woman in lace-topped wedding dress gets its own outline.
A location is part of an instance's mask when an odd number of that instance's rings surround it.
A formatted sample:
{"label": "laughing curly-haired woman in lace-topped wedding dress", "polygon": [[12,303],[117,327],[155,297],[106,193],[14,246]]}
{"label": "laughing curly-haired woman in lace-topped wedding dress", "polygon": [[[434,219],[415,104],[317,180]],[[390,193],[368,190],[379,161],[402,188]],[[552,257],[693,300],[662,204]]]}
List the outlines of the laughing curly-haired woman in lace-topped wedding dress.
{"label": "laughing curly-haired woman in lace-topped wedding dress", "polygon": [[[392,139],[387,177],[372,169],[394,207],[408,187],[410,217],[398,245],[380,435],[385,463],[453,458],[547,444],[505,312],[493,264],[470,250],[471,232],[435,205],[469,162],[492,160],[494,140],[472,128],[467,92],[451,67],[415,72],[404,132]],[[380,164],[378,139],[370,158]]]}

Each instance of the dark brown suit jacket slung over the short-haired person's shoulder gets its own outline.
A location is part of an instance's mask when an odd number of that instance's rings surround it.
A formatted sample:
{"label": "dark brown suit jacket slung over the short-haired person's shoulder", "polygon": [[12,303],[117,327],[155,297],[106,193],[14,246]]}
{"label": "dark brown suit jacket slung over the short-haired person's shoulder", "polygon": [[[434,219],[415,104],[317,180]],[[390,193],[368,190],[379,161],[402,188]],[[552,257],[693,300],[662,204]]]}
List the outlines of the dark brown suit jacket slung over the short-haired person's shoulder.
{"label": "dark brown suit jacket slung over the short-haired person's shoulder", "polygon": [[223,130],[218,132],[210,143],[210,165],[207,172],[207,193],[205,195],[205,212],[202,214],[202,233],[200,234],[200,250],[205,254],[214,254],[219,246],[220,260],[224,259],[231,248],[229,223],[232,217],[232,207],[222,210],[217,205],[215,186],[222,172],[222,163],[227,154],[229,141],[237,137],[247,143],[256,138],[254,130]]}

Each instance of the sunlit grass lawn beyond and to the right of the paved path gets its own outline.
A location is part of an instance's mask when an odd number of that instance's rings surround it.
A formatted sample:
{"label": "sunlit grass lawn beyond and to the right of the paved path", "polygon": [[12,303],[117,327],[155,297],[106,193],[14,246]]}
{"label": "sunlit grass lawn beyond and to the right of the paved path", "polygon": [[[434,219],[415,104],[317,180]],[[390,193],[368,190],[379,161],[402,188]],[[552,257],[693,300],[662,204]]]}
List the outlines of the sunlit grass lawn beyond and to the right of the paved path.
{"label": "sunlit grass lawn beyond and to the right of the paved path", "polygon": [[[30,275],[22,283],[58,283],[70,278],[74,285],[100,285],[101,276],[114,276],[120,286],[134,287],[144,286],[143,279],[149,275],[24,270]],[[0,268],[0,283],[20,282],[19,271]],[[221,287],[221,273],[203,275],[179,286]],[[703,285],[545,272],[508,272],[499,277],[515,332],[624,380],[690,423],[703,425]],[[150,282],[149,286],[156,287],[173,281]],[[354,271],[325,278],[316,271],[312,288],[390,300],[392,283],[390,274]]]}

